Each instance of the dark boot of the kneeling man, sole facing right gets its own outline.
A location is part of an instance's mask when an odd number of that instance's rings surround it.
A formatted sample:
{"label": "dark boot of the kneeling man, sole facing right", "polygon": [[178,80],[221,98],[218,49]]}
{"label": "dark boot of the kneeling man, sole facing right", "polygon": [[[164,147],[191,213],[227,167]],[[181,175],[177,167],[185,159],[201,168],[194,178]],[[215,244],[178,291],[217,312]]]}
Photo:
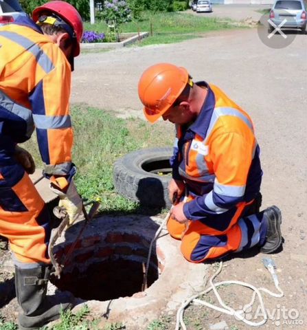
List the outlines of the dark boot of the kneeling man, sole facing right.
{"label": "dark boot of the kneeling man, sole facing right", "polygon": [[269,254],[275,252],[282,245],[282,231],[280,230],[282,212],[277,206],[266,208],[263,212],[263,216],[268,221],[268,230],[266,232],[266,241],[260,248],[260,252]]}

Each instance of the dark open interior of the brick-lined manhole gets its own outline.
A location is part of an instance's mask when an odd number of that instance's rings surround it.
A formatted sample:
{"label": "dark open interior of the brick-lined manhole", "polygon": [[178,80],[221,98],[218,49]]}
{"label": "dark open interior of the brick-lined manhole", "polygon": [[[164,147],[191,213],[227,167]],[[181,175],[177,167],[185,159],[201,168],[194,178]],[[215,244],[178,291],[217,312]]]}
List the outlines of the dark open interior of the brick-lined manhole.
{"label": "dark open interior of the brick-lined manhole", "polygon": [[[124,234],[123,237],[129,241],[129,235]],[[134,241],[135,237],[133,234]],[[138,242],[128,241],[121,240],[120,243],[109,245],[94,244],[86,252],[78,248],[60,279],[52,278],[52,283],[58,289],[69,291],[84,300],[104,301],[141,292],[150,242],[140,236]],[[65,246],[66,251],[69,246]],[[157,281],[161,272],[155,250],[155,247],[152,248],[147,287]]]}

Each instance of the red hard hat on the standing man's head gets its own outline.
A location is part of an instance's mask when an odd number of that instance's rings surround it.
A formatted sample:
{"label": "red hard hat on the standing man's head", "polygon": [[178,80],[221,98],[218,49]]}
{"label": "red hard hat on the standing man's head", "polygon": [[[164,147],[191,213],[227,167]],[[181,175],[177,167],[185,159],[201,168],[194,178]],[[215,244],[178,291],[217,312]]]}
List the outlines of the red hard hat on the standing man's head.
{"label": "red hard hat on the standing man's head", "polygon": [[63,19],[73,29],[73,57],[80,54],[80,42],[83,35],[83,23],[80,14],[70,3],[65,1],[49,1],[38,8],[35,8],[32,12],[32,19],[34,22],[38,21],[38,18],[42,13],[52,12],[58,17]]}

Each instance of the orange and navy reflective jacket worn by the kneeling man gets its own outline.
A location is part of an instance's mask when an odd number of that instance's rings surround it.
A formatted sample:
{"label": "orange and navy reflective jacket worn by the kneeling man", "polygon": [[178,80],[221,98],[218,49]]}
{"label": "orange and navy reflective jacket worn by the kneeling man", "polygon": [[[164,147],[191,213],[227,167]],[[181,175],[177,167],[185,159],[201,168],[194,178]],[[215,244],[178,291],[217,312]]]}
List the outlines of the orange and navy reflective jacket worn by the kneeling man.
{"label": "orange and navy reflective jacket worn by the kneeling man", "polygon": [[260,190],[259,146],[249,115],[223,91],[208,88],[201,113],[187,129],[177,127],[173,177],[196,197],[185,204],[187,219],[212,217],[251,201]]}

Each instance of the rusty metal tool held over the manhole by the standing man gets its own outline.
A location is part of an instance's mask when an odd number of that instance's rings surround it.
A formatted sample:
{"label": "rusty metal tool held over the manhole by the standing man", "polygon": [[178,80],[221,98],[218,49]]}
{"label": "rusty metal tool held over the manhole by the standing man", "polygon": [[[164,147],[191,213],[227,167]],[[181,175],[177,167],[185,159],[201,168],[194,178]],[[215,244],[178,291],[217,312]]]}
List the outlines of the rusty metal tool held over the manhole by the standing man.
{"label": "rusty metal tool held over the manhole by the standing man", "polygon": [[71,255],[74,248],[76,247],[76,243],[80,239],[80,236],[84,232],[84,230],[87,227],[87,224],[89,223],[89,221],[91,221],[91,219],[93,219],[93,217],[95,216],[95,213],[98,211],[98,208],[100,206],[100,203],[98,203],[98,201],[93,201],[93,202],[87,203],[87,205],[89,205],[89,204],[92,204],[91,209],[89,210],[89,213],[87,213],[87,210],[85,210],[85,207],[82,206],[82,212],[83,212],[84,218],[85,218],[84,225],[82,226],[82,228],[81,228],[78,236],[76,237],[76,239],[73,241],[73,244],[71,245],[71,247],[69,248],[67,254],[65,255],[64,260],[62,260],[60,262],[57,262],[55,257],[54,257],[53,248],[54,248],[54,244],[56,243],[56,240],[62,234],[62,231],[65,228],[67,228],[67,226],[69,225],[69,216],[68,216],[65,208],[60,208],[59,206],[56,206],[54,208],[54,215],[58,219],[62,219],[62,221],[61,221],[60,225],[57,228],[52,230],[52,236],[50,238],[50,242],[49,242],[49,245],[48,245],[48,254],[49,254],[50,260],[52,262],[52,265],[54,265],[54,276],[56,276],[57,278],[60,278],[60,273],[62,272],[62,269],[67,264],[69,256]]}

